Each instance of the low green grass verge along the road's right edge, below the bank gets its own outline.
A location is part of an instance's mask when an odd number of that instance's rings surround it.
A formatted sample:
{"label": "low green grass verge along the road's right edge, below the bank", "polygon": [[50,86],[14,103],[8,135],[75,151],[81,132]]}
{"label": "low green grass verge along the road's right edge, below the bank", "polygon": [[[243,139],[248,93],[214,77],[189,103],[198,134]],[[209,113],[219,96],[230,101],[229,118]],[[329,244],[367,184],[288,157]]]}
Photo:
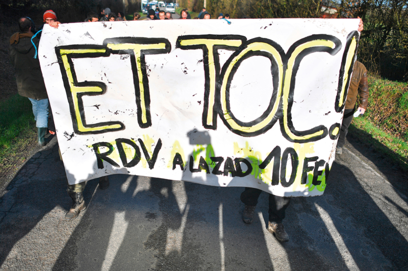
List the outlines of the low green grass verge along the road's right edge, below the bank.
{"label": "low green grass verge along the road's right edge, below the bank", "polygon": [[404,171],[408,171],[408,143],[378,128],[367,117],[353,118],[349,132],[356,138],[363,139],[364,144],[372,146]]}

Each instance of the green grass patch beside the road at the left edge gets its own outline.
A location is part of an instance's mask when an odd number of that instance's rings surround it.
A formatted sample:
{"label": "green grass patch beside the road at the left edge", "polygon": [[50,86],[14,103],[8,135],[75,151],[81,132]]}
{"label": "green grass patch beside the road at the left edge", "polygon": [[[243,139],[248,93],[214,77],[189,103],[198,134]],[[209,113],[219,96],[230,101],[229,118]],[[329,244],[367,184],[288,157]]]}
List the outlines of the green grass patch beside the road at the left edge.
{"label": "green grass patch beside the road at the left edge", "polygon": [[36,141],[31,102],[18,94],[0,102],[0,172]]}

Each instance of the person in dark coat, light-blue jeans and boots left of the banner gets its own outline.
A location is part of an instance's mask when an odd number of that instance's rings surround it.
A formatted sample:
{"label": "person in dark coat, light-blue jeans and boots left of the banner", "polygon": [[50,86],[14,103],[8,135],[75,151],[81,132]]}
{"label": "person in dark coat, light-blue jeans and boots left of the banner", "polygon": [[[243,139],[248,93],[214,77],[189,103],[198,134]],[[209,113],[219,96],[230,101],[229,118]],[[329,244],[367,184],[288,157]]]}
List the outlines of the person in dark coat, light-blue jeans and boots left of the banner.
{"label": "person in dark coat, light-blue jeans and boots left of the banner", "polygon": [[16,71],[17,90],[19,95],[31,101],[38,145],[44,146],[48,126],[48,96],[37,56],[39,38],[33,37],[36,29],[30,18],[20,18],[18,26],[20,32],[14,33],[10,38],[10,56]]}

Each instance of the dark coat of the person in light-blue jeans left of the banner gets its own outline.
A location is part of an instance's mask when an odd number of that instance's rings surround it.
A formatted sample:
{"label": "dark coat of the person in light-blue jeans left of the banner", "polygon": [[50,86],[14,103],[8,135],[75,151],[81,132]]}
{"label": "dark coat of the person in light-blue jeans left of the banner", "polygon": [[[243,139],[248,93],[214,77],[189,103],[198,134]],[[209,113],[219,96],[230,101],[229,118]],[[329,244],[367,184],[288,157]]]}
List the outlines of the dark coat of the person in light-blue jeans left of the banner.
{"label": "dark coat of the person in light-blue jeans left of the banner", "polygon": [[[42,100],[48,98],[42,78],[40,62],[34,58],[35,48],[31,43],[32,34],[15,33],[10,38],[11,62],[16,71],[18,93],[27,98]],[[33,42],[38,50],[39,40]]]}

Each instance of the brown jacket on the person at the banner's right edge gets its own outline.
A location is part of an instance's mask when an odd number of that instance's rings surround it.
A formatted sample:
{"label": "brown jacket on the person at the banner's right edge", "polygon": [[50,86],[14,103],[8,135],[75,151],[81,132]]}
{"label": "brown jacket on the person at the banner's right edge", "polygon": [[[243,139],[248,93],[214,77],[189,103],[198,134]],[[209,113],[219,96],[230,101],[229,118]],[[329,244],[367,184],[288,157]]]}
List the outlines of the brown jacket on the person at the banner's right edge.
{"label": "brown jacket on the person at the banner's right edge", "polygon": [[353,109],[357,101],[357,95],[360,95],[359,106],[367,109],[368,104],[368,78],[367,69],[359,61],[354,62],[354,69],[351,75],[350,86],[348,87],[345,109]]}

